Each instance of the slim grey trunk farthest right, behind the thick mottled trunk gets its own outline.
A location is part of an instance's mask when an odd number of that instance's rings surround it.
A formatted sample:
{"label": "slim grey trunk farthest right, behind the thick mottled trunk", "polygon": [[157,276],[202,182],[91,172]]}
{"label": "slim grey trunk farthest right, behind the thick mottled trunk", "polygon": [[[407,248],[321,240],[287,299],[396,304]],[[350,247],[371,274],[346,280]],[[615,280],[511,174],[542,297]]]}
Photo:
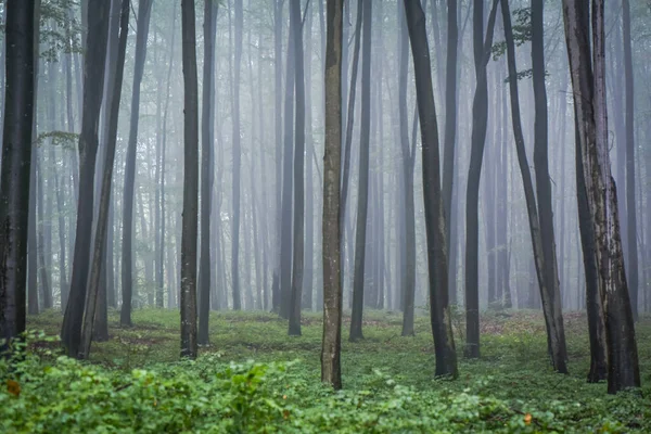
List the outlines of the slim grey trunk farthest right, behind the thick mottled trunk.
{"label": "slim grey trunk farthest right, behind the thick mottled trunk", "polygon": [[[628,256],[626,269],[628,273],[628,289],[633,318],[638,318],[638,248],[637,248],[637,215],[635,201],[635,95],[633,79],[633,54],[630,49],[630,2],[622,0],[622,33],[624,43],[624,88],[626,94],[625,123],[626,123],[626,213],[627,213],[627,241]],[[623,168],[621,168],[623,170]]]}

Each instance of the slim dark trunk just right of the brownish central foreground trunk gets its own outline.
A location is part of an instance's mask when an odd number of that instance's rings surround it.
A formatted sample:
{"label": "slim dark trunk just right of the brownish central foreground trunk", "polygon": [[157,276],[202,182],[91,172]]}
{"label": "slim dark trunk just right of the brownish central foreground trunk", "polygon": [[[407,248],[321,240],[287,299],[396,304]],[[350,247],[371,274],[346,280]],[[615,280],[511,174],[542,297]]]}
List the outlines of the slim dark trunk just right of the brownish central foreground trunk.
{"label": "slim dark trunk just right of the brownish central foreground trunk", "polygon": [[359,182],[357,191],[357,222],[355,229],[355,270],[353,278],[352,342],[363,339],[361,318],[366,268],[367,217],[369,210],[369,165],[371,140],[371,23],[372,0],[363,2],[361,41],[361,122],[359,126]]}

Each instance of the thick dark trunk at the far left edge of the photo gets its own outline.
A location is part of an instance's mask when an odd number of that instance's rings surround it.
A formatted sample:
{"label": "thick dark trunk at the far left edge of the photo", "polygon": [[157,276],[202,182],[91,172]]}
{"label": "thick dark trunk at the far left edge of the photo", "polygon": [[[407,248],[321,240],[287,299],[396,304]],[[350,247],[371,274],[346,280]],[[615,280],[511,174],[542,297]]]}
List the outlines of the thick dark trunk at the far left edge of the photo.
{"label": "thick dark trunk at the far left edge of the photo", "polygon": [[34,2],[8,0],[0,178],[0,336],[25,331],[27,217],[34,119]]}

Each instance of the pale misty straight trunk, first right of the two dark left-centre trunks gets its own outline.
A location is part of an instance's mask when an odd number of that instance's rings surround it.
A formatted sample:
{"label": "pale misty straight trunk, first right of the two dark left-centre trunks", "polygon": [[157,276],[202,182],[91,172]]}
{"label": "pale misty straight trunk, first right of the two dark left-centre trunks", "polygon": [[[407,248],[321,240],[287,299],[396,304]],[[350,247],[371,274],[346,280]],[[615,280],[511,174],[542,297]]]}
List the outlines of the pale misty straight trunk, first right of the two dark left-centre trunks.
{"label": "pale misty straight trunk, first right of the two dark left-centre trunks", "polygon": [[244,12],[242,0],[234,1],[235,10],[235,50],[234,84],[233,84],[233,218],[231,243],[231,278],[233,285],[233,309],[242,308],[240,295],[240,169],[242,166],[242,148],[240,144],[240,74],[242,69],[242,27],[244,26]]}

